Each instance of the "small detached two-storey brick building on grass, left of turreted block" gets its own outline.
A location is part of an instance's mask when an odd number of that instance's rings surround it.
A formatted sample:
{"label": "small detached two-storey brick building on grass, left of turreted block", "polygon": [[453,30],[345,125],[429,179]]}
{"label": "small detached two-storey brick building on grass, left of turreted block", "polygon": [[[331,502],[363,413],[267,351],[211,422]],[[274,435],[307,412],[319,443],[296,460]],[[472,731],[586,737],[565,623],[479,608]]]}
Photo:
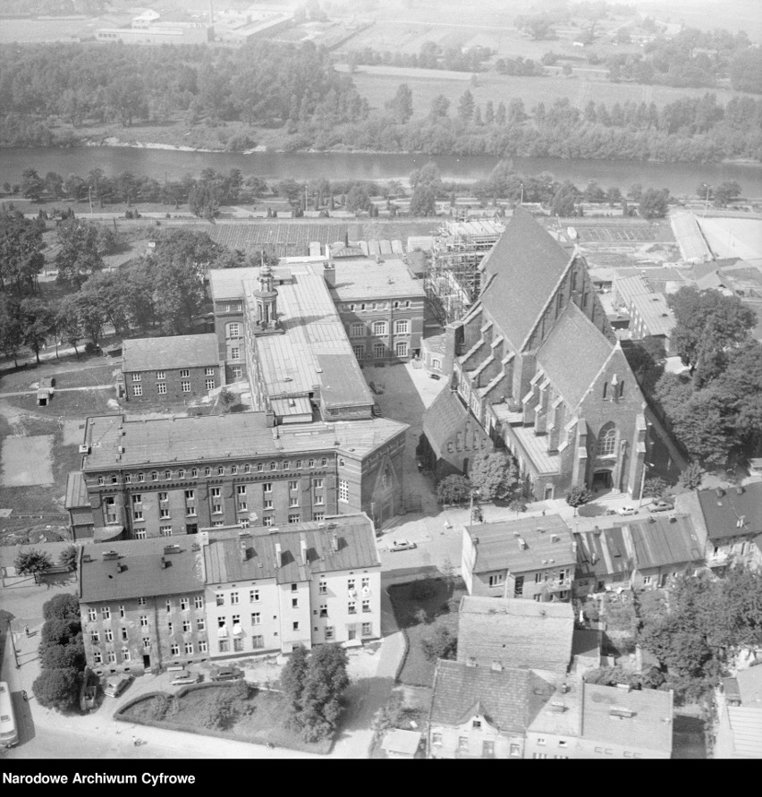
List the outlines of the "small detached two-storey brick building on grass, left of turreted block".
{"label": "small detached two-storey brick building on grass, left of turreted block", "polygon": [[182,402],[220,386],[216,336],[131,338],[123,343],[127,402]]}

